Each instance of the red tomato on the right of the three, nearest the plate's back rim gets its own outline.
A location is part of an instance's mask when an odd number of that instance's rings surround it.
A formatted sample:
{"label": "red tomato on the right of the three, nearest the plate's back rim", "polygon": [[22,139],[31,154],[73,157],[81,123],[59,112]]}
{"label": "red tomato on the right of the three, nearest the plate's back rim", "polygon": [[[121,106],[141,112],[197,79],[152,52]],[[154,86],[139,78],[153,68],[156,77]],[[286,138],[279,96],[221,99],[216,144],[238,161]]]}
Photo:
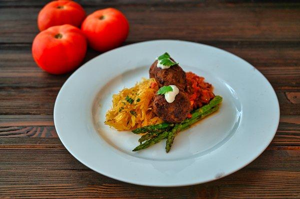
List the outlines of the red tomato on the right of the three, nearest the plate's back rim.
{"label": "red tomato on the right of the three, nearest the plate's back rim", "polygon": [[117,9],[99,9],[88,15],[81,24],[88,44],[95,50],[107,51],[125,41],[129,24]]}

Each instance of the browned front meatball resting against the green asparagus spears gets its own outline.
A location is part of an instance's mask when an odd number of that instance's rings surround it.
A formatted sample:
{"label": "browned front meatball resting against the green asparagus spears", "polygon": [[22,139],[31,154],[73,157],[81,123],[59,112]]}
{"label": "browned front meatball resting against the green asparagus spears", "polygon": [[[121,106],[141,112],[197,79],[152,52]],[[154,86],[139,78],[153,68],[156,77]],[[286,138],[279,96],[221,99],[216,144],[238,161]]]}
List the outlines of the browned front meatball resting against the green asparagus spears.
{"label": "browned front meatball resting against the green asparagus spears", "polygon": [[179,91],[175,100],[168,103],[164,95],[155,95],[153,99],[153,112],[165,122],[182,122],[190,111],[190,102],[187,95]]}

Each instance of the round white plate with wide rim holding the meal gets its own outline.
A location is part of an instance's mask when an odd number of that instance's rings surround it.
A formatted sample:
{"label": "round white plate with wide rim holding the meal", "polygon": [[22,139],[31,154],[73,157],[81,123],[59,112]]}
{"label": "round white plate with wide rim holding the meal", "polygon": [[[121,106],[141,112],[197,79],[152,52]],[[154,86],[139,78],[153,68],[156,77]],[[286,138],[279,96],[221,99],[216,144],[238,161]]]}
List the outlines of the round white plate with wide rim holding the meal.
{"label": "round white plate with wide rim holding the meal", "polygon": [[[165,142],[132,152],[138,135],[104,125],[111,96],[132,87],[158,55],[169,52],[185,71],[214,86],[220,110]],[[224,50],[178,40],[154,40],[103,53],[75,71],[60,89],[54,123],[65,148],[110,178],[145,186],[186,186],[229,175],[259,156],[279,122],[273,88],[252,65]]]}

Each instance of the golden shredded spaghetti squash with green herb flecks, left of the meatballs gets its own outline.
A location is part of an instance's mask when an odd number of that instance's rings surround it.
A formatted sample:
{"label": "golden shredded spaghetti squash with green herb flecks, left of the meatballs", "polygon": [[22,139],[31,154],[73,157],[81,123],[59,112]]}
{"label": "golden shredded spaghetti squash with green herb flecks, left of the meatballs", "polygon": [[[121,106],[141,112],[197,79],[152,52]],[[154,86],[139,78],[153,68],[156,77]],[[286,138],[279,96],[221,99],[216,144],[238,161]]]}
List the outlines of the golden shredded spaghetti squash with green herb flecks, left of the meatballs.
{"label": "golden shredded spaghetti squash with green herb flecks, left of the meatballs", "polygon": [[104,123],[118,131],[161,123],[152,111],[152,98],[157,90],[155,79],[150,78],[112,95],[112,108],[107,111]]}

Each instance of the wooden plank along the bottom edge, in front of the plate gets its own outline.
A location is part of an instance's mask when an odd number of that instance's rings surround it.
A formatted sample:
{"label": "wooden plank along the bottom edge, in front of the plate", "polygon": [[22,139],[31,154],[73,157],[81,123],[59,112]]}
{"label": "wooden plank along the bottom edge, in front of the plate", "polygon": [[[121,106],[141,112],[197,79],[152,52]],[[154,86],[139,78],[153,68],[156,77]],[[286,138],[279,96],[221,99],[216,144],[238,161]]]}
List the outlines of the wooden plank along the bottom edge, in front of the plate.
{"label": "wooden plank along the bottom edge, in front of the plate", "polygon": [[218,181],[178,188],[121,183],[93,171],[0,170],[0,197],[12,198],[297,198],[300,172],[240,170]]}

